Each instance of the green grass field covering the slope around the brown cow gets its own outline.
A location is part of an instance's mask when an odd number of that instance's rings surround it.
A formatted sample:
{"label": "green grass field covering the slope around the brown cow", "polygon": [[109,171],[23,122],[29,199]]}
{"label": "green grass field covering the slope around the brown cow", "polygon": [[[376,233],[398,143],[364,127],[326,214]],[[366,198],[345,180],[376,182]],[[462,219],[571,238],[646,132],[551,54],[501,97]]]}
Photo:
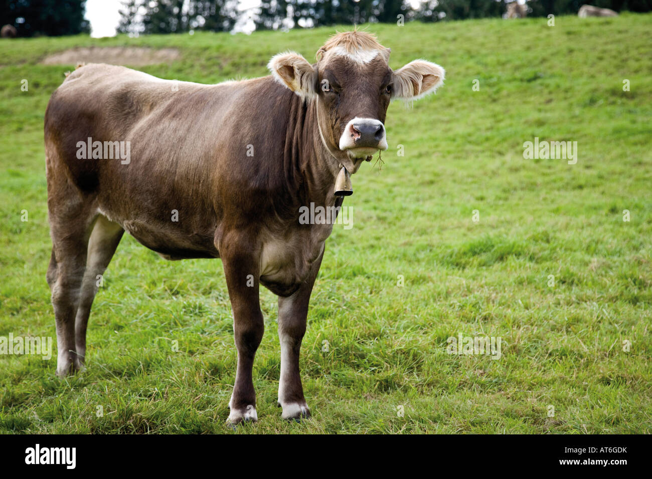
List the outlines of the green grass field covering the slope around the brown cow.
{"label": "green grass field covering the slope around the brown cow", "polygon": [[[327,241],[302,349],[312,420],[276,407],[276,297],[261,289],[259,421],[236,433],[652,432],[652,16],[546,22],[368,26],[392,68],[421,57],[447,80],[390,106],[384,164],[353,177],[353,228]],[[44,56],[176,47],[180,61],[140,69],[215,83],[263,76],[279,51],[313,59],[334,31],[0,41],[0,336],[56,343],[42,128],[74,65]],[[535,137],[577,141],[577,163],[524,159]],[[1,432],[233,433],[219,260],[166,262],[125,235],[88,331],[88,368],[68,379],[55,351],[0,356]],[[501,358],[447,354],[458,334],[502,338]]]}

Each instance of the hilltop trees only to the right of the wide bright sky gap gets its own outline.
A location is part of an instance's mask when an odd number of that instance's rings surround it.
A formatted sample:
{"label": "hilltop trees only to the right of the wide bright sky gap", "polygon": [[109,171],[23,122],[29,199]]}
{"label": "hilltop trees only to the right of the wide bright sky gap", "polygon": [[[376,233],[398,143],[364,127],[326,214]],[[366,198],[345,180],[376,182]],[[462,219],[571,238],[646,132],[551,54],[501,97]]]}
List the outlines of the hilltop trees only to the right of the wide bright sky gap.
{"label": "hilltop trees only to the right of the wide bright sky gap", "polygon": [[[250,11],[232,0],[129,0],[122,12],[123,33],[177,33],[189,30],[231,31],[250,16],[256,29],[351,25],[366,22],[441,22],[500,17],[508,0],[425,0],[411,7],[407,0],[262,0]],[[532,0],[531,16],[576,14],[588,3],[617,12],[649,12],[652,0]]]}

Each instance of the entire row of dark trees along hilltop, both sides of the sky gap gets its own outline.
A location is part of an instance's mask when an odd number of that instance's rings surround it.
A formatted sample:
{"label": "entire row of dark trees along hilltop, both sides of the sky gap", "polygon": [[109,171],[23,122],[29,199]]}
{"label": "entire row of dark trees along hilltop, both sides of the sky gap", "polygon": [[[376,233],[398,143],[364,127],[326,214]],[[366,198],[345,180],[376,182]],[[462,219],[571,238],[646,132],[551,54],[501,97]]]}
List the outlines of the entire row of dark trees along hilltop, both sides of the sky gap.
{"label": "entire row of dark trees along hilltop, both sides of the sky gap", "polygon": [[[85,0],[0,0],[0,25],[13,25],[19,36],[88,33]],[[424,0],[411,7],[407,0],[261,0],[242,10],[236,0],[125,0],[121,33],[185,33],[190,30],[232,31],[250,19],[256,29],[287,29],[366,22],[418,20],[442,22],[499,17],[507,0]],[[575,14],[588,3],[617,12],[649,12],[652,0],[532,0],[530,16]]]}

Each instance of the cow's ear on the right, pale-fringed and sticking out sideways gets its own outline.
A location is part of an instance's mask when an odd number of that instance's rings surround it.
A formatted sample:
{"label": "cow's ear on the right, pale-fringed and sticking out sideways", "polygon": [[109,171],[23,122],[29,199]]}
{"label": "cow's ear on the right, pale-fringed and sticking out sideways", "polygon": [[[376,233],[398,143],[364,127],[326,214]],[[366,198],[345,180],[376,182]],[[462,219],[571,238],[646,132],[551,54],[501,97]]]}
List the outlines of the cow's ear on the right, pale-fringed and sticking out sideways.
{"label": "cow's ear on the right, pale-fringed and sticking out sideways", "polygon": [[417,100],[434,93],[444,82],[445,71],[441,66],[425,60],[415,60],[396,70],[393,75],[393,98]]}

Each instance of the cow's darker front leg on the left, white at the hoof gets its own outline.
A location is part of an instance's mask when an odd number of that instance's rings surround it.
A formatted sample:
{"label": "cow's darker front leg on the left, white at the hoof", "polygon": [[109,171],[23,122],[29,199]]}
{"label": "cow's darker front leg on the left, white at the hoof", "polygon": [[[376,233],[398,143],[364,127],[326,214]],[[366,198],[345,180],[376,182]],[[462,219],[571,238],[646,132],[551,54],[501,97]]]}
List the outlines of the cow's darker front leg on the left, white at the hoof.
{"label": "cow's darker front leg on the left, white at the hoof", "polygon": [[244,240],[233,240],[231,246],[220,251],[233,309],[233,333],[238,355],[235,385],[229,401],[231,424],[258,420],[252,369],[265,327],[258,297],[258,256],[255,249],[242,249],[243,245],[250,244]]}

